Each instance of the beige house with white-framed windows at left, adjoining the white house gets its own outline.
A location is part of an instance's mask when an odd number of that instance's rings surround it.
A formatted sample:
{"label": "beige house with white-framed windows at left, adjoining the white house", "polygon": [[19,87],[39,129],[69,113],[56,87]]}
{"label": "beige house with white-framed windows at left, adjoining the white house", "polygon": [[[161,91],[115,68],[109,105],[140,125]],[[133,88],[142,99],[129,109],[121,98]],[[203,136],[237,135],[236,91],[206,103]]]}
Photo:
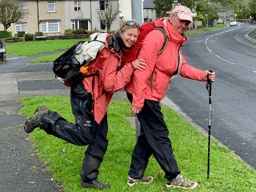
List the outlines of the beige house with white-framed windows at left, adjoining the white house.
{"label": "beige house with white-framed windows at left, adjoining the white house", "polygon": [[[65,1],[22,1],[23,19],[12,23],[9,32],[12,36],[17,32],[44,35],[56,35],[65,31]],[[64,21],[64,22],[63,22]],[[3,30],[0,25],[0,30]]]}

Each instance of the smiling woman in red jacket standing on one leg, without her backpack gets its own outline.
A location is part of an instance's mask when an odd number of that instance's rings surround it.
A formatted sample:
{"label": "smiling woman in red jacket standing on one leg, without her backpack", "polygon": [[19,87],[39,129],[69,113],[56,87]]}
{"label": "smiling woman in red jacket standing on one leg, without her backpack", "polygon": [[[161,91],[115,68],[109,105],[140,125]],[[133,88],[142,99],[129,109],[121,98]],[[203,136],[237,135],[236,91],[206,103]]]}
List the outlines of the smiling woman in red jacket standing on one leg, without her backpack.
{"label": "smiling woman in red jacket standing on one leg, without her backpack", "polygon": [[107,189],[108,183],[98,180],[98,168],[107,151],[107,107],[114,92],[129,83],[136,69],[144,70],[145,61],[136,59],[120,68],[122,50],[136,43],[139,25],[134,21],[125,23],[116,34],[108,34],[105,48],[91,61],[86,75],[98,71],[98,76],[83,78],[71,87],[71,106],[76,122],[68,122],[45,106],[36,109],[25,122],[25,132],[36,127],[74,145],[89,145],[85,152],[81,175],[81,187]]}

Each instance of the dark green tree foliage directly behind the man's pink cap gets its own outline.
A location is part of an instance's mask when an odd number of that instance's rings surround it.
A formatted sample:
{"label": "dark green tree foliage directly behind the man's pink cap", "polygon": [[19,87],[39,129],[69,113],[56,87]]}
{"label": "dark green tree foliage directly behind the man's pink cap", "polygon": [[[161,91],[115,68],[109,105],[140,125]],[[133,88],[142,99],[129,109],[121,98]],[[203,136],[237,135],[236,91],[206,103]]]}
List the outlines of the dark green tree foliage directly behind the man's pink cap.
{"label": "dark green tree foliage directly behind the man's pink cap", "polygon": [[[186,6],[190,8],[191,10],[195,8],[195,2],[196,0],[179,0],[178,3],[180,3],[182,6]],[[154,0],[153,3],[155,4],[156,8],[156,17],[167,17],[166,12],[172,10],[172,3],[174,3],[174,0]]]}

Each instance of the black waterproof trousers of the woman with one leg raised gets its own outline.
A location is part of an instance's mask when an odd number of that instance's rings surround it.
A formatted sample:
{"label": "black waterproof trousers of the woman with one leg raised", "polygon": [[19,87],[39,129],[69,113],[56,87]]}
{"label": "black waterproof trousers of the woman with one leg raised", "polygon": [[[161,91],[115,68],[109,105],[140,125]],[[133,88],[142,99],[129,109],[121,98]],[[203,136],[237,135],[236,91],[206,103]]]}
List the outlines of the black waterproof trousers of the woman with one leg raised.
{"label": "black waterproof trousers of the woman with one leg raised", "polygon": [[84,182],[91,182],[98,177],[98,168],[107,151],[107,114],[98,125],[91,110],[93,103],[91,94],[86,91],[81,93],[72,87],[70,98],[76,122],[68,122],[55,111],[50,111],[42,117],[41,129],[45,130],[47,134],[74,145],[88,145],[80,175]]}

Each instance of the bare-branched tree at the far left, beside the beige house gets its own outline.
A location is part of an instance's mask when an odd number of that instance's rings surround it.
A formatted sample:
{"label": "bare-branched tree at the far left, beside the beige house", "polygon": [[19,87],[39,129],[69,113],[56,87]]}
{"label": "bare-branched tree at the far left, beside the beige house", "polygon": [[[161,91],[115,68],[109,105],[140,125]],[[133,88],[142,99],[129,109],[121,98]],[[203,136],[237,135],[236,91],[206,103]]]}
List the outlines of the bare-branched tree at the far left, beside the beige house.
{"label": "bare-branched tree at the far left, beside the beige house", "polygon": [[0,0],[0,23],[7,30],[12,23],[19,21],[24,15],[21,1]]}

